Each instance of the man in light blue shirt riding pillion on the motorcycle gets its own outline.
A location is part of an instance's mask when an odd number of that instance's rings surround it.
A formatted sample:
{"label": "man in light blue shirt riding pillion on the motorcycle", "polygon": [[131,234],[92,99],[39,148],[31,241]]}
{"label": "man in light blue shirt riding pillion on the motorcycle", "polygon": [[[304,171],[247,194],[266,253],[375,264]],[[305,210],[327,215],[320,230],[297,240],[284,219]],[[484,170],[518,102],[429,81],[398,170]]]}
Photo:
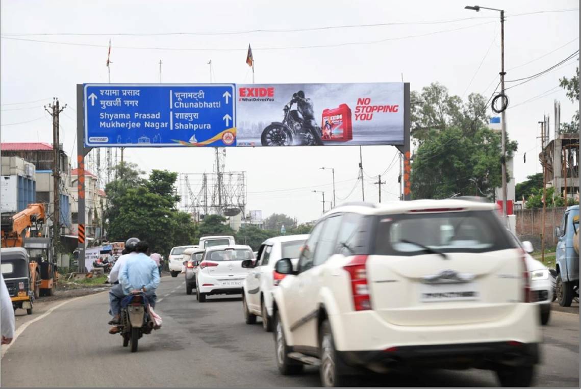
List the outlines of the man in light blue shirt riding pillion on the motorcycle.
{"label": "man in light blue shirt riding pillion on the motorcycle", "polygon": [[146,254],[149,245],[144,240],[137,243],[137,255],[128,258],[119,273],[119,283],[123,287],[125,296],[132,290],[142,290],[148,298],[149,304],[155,308],[155,290],[160,282],[159,271],[155,261]]}

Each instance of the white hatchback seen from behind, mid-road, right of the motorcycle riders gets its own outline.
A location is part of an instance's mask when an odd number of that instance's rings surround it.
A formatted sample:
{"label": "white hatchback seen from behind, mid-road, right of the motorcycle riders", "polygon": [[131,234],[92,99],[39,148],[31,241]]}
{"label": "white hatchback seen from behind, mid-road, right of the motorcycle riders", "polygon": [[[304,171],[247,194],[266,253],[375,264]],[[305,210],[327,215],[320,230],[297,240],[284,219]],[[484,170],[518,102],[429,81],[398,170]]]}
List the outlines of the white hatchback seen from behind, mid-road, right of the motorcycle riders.
{"label": "white hatchback seen from behind, mid-road, right of the motorcycle riders", "polygon": [[241,294],[242,281],[249,269],[242,267],[242,261],[254,260],[250,246],[212,246],[206,248],[198,268],[196,268],[196,298],[206,301],[213,294]]}

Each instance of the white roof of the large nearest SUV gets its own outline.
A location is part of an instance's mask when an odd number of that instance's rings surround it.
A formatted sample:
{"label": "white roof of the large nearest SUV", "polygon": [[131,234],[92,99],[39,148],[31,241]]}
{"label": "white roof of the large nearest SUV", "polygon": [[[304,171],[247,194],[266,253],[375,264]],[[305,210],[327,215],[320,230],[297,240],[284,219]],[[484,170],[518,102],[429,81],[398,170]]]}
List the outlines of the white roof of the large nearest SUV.
{"label": "white roof of the large nearest SUV", "polygon": [[478,201],[446,199],[446,200],[411,200],[411,201],[386,201],[380,204],[364,203],[345,204],[333,208],[327,215],[338,212],[356,212],[365,215],[399,214],[407,212],[421,212],[428,210],[456,210],[456,211],[492,211],[496,210],[495,203],[480,203]]}

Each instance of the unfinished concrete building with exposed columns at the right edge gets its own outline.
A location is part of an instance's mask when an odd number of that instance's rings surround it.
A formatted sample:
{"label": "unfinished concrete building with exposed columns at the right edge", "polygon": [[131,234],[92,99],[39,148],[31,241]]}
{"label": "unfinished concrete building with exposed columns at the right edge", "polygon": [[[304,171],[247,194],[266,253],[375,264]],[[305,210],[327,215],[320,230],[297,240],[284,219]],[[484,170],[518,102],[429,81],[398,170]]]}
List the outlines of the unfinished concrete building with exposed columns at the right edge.
{"label": "unfinished concrete building with exposed columns at the right edge", "polygon": [[547,142],[539,159],[541,164],[546,160],[547,184],[553,185],[555,193],[575,200],[579,195],[579,134],[557,135]]}

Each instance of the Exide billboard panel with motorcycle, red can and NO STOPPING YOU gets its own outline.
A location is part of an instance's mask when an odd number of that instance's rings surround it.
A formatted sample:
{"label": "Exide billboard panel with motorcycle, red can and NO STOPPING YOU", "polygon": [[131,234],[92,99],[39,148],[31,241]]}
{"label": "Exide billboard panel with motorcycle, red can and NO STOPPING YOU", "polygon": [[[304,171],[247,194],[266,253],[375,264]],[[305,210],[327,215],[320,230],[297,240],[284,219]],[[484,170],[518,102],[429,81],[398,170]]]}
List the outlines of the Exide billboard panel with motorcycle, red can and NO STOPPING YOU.
{"label": "Exide billboard panel with motorcycle, red can and NO STOPPING YOU", "polygon": [[404,84],[236,85],[236,146],[403,145]]}

